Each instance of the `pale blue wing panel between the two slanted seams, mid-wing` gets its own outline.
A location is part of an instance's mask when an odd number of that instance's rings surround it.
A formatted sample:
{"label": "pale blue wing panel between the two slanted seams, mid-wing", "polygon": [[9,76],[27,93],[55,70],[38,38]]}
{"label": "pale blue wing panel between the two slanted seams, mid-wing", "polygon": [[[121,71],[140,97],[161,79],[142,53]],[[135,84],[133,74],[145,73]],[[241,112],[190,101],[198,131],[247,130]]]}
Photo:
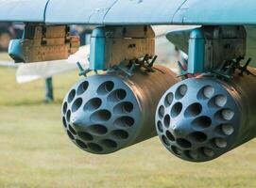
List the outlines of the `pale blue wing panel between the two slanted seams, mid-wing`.
{"label": "pale blue wing panel between the two slanted seams, mid-wing", "polygon": [[118,0],[104,24],[171,24],[186,0]]}

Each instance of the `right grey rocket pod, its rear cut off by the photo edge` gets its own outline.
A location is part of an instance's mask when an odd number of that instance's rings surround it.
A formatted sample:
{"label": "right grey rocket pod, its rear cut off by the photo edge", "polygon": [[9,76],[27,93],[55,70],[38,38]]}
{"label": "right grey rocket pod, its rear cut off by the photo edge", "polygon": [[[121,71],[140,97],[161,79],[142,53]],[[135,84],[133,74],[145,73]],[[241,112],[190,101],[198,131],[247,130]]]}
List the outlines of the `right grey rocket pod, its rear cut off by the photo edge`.
{"label": "right grey rocket pod, its rear cut off by the photo edge", "polygon": [[[256,72],[251,70],[252,72]],[[191,78],[168,89],[156,128],[166,149],[192,162],[213,160],[256,136],[256,78]]]}

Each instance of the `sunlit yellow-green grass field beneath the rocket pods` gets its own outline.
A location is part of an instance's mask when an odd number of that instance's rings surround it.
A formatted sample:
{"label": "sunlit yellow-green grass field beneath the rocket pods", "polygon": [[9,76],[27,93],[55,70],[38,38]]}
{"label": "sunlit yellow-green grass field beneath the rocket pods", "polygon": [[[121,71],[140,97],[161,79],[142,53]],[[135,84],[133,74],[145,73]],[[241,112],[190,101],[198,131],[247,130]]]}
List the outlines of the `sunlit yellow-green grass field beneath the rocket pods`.
{"label": "sunlit yellow-green grass field beneath the rocket pods", "polygon": [[77,149],[60,121],[64,94],[77,73],[54,78],[56,100],[43,104],[43,81],[15,84],[0,68],[0,187],[256,187],[256,141],[210,163],[173,157],[158,138],[107,156]]}

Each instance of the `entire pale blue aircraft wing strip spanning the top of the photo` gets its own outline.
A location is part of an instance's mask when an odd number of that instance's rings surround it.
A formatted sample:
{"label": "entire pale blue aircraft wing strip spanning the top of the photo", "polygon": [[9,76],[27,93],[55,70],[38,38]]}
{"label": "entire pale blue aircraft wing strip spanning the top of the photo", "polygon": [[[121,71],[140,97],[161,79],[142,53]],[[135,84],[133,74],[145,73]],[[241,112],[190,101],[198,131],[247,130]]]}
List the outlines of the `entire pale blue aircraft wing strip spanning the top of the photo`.
{"label": "entire pale blue aircraft wing strip spanning the top of the photo", "polygon": [[0,21],[115,25],[256,24],[254,10],[254,0],[0,0]]}

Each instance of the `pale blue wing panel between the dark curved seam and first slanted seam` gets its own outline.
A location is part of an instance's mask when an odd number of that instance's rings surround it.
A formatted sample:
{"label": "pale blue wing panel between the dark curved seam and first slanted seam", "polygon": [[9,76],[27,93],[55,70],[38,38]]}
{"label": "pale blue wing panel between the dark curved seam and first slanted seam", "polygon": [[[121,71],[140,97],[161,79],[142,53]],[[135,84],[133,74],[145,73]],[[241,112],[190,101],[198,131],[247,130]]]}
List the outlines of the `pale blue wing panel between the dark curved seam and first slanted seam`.
{"label": "pale blue wing panel between the dark curved seam and first slanted seam", "polygon": [[50,0],[45,10],[48,24],[103,24],[116,0]]}

